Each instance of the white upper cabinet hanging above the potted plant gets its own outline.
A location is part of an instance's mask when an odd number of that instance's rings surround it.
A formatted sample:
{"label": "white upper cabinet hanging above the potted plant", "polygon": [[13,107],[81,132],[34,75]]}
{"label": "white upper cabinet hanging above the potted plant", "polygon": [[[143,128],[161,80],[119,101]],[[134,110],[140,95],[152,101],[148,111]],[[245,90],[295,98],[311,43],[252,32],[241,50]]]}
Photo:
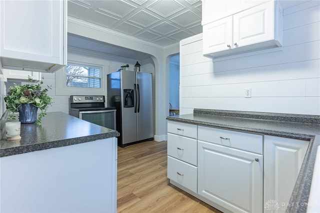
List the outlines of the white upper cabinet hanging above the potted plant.
{"label": "white upper cabinet hanging above the potted plant", "polygon": [[54,72],[66,64],[66,0],[1,0],[1,68]]}

